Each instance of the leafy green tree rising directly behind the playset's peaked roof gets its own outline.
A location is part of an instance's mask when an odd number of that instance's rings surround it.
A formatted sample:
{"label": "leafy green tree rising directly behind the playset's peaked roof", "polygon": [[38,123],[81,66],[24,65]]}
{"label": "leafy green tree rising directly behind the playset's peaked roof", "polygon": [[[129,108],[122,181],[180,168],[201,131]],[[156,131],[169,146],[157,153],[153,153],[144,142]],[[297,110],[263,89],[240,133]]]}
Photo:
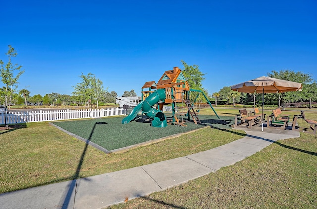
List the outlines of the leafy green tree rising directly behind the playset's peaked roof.
{"label": "leafy green tree rising directly behind the playset's peaked roof", "polygon": [[189,66],[183,60],[181,60],[184,68],[182,69],[183,75],[185,76],[191,89],[202,90],[202,81],[205,80],[204,73],[199,70],[198,65]]}

